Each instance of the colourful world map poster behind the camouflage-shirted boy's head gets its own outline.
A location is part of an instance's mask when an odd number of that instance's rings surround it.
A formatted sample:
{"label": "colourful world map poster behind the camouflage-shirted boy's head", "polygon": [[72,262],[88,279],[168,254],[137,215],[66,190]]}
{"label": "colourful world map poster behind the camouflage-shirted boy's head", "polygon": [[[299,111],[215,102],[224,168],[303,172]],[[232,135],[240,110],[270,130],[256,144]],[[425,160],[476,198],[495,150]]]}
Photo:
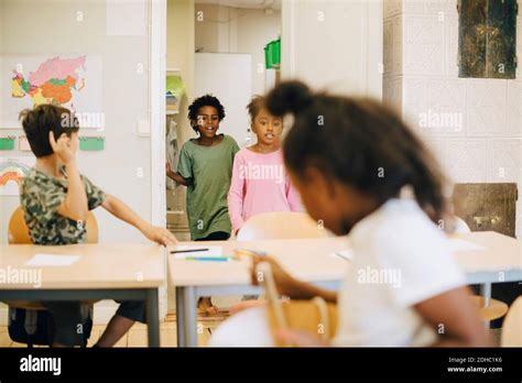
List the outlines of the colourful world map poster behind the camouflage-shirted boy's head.
{"label": "colourful world map poster behind the camouflage-shirted boy's head", "polygon": [[81,128],[104,128],[100,57],[2,56],[0,61],[0,129],[20,128],[20,111],[42,103],[70,109]]}

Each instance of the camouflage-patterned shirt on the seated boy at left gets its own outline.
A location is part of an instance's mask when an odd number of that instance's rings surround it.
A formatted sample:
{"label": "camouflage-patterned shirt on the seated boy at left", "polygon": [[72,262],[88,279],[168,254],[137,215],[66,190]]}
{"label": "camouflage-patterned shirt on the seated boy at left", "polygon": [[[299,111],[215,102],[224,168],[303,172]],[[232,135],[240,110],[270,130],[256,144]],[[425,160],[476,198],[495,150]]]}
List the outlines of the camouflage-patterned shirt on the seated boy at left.
{"label": "camouflage-patterned shirt on the seated boy at left", "polygon": [[[105,193],[80,176],[89,210],[104,204]],[[31,168],[22,180],[20,204],[29,234],[35,244],[75,244],[85,242],[84,223],[61,216],[58,208],[67,196],[67,180]]]}

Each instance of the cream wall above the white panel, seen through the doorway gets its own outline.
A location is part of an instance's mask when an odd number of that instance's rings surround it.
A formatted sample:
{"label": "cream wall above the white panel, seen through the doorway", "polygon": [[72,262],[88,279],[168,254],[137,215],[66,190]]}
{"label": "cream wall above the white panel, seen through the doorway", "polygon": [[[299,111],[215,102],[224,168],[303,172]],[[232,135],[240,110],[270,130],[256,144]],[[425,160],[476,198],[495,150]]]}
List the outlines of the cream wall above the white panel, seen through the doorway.
{"label": "cream wall above the white panel, seen through the doorway", "polygon": [[281,12],[209,4],[196,4],[195,11],[196,48],[202,53],[251,54],[252,94],[264,94],[264,46],[281,34]]}

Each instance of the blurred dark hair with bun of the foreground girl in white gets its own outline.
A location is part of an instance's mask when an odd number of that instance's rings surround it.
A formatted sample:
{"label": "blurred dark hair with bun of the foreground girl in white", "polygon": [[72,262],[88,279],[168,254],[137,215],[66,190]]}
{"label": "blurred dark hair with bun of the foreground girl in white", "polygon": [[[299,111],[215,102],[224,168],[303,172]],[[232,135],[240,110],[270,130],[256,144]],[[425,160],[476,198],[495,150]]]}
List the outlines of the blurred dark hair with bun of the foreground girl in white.
{"label": "blurred dark hair with bun of the foreground girl in white", "polygon": [[391,109],[367,98],[312,92],[300,81],[273,89],[267,108],[274,116],[294,116],[283,152],[297,176],[316,166],[379,205],[411,185],[432,221],[444,218],[446,179],[431,152]]}

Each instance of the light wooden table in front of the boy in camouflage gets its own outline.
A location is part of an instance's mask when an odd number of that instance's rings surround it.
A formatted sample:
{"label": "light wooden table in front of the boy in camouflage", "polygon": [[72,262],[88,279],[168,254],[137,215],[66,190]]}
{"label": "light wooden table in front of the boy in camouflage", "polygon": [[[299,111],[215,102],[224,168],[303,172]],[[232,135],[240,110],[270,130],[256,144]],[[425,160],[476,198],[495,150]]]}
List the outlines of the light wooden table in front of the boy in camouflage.
{"label": "light wooden table in front of the boy in camouflage", "polygon": [[[155,244],[0,245],[0,300],[144,300],[149,346],[160,347],[157,295],[165,284],[165,251]],[[66,266],[25,265],[39,253],[80,258]],[[41,284],[29,276],[31,270],[40,271]]]}

